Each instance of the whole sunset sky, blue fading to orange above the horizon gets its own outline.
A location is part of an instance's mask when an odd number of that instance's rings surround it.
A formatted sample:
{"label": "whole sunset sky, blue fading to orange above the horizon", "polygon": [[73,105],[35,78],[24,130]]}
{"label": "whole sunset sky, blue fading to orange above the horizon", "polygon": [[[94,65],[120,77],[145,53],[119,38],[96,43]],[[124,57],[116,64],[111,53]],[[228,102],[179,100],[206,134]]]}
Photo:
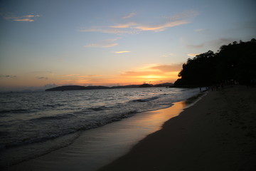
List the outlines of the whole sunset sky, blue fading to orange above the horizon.
{"label": "whole sunset sky, blue fading to orange above the horizon", "polygon": [[188,58],[256,38],[255,0],[2,0],[0,91],[174,83]]}

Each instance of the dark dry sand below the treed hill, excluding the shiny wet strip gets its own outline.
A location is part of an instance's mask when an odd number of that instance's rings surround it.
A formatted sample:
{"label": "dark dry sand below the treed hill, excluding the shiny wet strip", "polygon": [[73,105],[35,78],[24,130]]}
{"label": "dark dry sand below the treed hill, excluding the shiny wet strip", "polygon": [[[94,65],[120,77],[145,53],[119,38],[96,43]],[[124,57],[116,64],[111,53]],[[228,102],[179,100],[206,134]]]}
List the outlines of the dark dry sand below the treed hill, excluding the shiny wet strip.
{"label": "dark dry sand below the treed hill, excluding the shiny wet strip", "polygon": [[102,170],[256,170],[256,88],[209,92]]}

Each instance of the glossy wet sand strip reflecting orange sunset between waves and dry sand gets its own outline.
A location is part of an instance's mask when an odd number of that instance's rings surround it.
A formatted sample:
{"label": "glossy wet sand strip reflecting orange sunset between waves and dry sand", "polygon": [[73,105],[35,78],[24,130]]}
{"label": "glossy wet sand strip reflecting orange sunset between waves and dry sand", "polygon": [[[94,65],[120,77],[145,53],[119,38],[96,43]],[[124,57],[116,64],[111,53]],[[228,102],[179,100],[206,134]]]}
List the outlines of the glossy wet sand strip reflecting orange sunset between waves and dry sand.
{"label": "glossy wet sand strip reflecting orange sunset between waves and dry sand", "polygon": [[97,170],[109,164],[151,133],[162,128],[170,118],[179,115],[183,108],[201,99],[198,93],[169,108],[137,113],[100,128],[86,130],[73,144],[31,160],[13,165],[7,170]]}

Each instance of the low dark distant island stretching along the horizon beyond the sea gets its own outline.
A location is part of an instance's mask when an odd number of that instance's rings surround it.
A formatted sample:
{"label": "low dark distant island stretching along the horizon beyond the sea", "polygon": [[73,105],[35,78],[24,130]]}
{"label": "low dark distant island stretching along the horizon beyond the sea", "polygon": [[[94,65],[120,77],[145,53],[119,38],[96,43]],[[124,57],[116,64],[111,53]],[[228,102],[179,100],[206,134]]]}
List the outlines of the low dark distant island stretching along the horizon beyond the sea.
{"label": "low dark distant island stretching along the horizon beyond the sea", "polygon": [[48,88],[46,91],[65,91],[65,90],[95,90],[95,89],[113,89],[113,88],[150,88],[150,87],[172,87],[173,83],[161,83],[161,84],[142,84],[142,85],[128,85],[128,86],[58,86],[55,88]]}

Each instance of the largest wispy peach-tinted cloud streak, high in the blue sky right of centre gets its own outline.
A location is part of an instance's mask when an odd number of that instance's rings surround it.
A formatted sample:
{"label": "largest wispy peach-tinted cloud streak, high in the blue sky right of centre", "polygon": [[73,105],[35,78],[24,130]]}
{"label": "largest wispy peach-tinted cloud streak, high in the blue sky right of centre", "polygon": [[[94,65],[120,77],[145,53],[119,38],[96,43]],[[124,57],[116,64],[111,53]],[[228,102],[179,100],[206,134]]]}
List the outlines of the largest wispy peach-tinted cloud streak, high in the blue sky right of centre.
{"label": "largest wispy peach-tinted cloud streak, high in the blue sky right of centre", "polygon": [[[127,23],[113,24],[111,26],[92,26],[91,28],[81,28],[81,32],[102,32],[102,33],[139,33],[140,31],[165,31],[167,28],[181,26],[191,23],[191,19],[197,16],[198,11],[186,11],[175,16],[161,17],[162,22],[159,24],[159,19],[152,19],[150,24],[143,22],[129,21]],[[129,19],[134,16],[134,13],[127,15],[123,19]]]}

